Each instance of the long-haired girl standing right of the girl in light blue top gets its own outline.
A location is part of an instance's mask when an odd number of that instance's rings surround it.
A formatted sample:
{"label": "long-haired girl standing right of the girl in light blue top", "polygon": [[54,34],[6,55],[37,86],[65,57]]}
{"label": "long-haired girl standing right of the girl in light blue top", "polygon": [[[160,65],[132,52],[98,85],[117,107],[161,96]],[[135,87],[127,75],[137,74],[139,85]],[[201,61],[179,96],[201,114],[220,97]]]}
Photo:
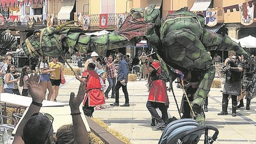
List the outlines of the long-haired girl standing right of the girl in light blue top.
{"label": "long-haired girl standing right of the girl in light blue top", "polygon": [[28,74],[30,73],[30,67],[25,65],[24,67],[22,67],[22,71],[21,71],[21,76],[20,76],[20,81],[19,81],[19,86],[20,87],[23,87],[22,89],[22,95],[23,96],[28,96],[29,93],[28,93],[28,86],[27,86],[27,83],[28,83],[28,79],[29,79],[29,76]]}

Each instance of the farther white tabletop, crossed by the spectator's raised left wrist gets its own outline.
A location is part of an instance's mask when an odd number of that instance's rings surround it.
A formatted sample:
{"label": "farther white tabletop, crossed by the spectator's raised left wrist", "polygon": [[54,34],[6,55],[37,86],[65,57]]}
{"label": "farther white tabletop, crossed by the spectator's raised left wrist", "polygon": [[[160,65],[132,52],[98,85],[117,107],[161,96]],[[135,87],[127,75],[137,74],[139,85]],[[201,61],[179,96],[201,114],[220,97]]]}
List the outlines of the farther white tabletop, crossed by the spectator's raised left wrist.
{"label": "farther white tabletop, crossed by the spectator's raised left wrist", "polygon": [[[32,102],[32,97],[25,97],[22,95],[14,95],[10,93],[1,93],[0,102],[6,104],[13,104],[17,106],[29,107]],[[53,102],[49,100],[43,100],[42,107],[46,106],[67,106],[68,103]]]}

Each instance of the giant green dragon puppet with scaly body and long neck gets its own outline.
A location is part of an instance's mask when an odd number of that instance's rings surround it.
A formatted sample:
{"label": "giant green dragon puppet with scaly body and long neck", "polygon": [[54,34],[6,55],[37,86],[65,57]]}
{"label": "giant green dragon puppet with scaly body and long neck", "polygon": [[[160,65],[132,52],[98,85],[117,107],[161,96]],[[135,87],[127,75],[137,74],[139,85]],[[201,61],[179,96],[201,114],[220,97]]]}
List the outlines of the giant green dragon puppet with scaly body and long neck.
{"label": "giant green dragon puppet with scaly body and long neck", "polygon": [[25,53],[33,57],[59,56],[66,49],[82,53],[96,51],[105,56],[106,50],[147,40],[149,49],[154,49],[167,65],[185,75],[193,71],[200,74],[200,83],[191,105],[195,120],[204,125],[202,105],[215,74],[215,67],[207,51],[234,50],[248,61],[251,61],[250,57],[227,35],[204,29],[204,18],[187,11],[187,7],[160,20],[160,10],[155,6],[152,4],[146,9],[132,9],[122,26],[109,34],[86,35],[81,29],[70,26],[71,22],[67,22],[56,28],[35,30],[34,35],[27,38],[22,46]]}

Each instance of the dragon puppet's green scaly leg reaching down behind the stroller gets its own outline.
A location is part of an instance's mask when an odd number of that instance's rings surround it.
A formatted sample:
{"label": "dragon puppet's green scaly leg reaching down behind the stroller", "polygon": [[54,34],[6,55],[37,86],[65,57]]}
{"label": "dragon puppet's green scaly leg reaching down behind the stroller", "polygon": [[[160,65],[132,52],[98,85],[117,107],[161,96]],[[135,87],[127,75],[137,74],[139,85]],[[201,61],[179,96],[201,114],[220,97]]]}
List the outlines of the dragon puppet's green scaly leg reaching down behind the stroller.
{"label": "dragon puppet's green scaly leg reaching down behind the stroller", "polygon": [[215,75],[214,66],[210,67],[209,69],[207,69],[205,72],[202,73],[203,79],[200,81],[198,89],[194,94],[194,100],[191,103],[193,111],[195,113],[195,120],[201,126],[205,125],[205,114],[202,109],[202,106],[205,102],[205,98],[207,97],[207,94],[210,91],[211,83],[214,79],[214,75]]}

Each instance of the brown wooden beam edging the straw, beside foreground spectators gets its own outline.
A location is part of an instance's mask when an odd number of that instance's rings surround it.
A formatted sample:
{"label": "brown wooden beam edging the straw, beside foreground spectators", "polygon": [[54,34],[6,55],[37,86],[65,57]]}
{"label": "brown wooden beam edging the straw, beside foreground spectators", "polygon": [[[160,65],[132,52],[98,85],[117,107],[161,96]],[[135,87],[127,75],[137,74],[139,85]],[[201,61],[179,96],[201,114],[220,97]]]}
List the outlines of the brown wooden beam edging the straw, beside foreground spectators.
{"label": "brown wooden beam edging the straw, beside foreground spectators", "polygon": [[85,116],[91,131],[97,135],[105,144],[125,144],[109,133],[106,129],[98,125],[95,121]]}

